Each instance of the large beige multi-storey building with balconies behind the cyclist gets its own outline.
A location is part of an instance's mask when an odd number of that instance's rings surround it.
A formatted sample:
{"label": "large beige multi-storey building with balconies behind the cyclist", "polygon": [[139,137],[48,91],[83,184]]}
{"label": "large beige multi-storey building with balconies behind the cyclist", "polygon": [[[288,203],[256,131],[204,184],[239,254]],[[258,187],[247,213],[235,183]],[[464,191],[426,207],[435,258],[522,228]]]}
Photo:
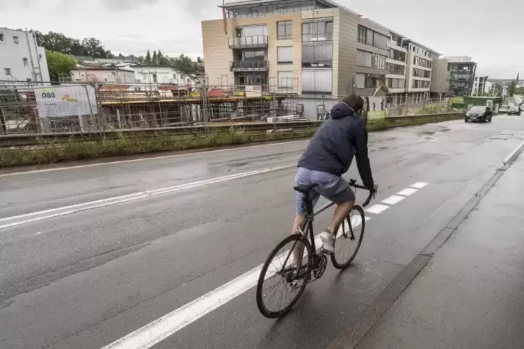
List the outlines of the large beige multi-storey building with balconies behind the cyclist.
{"label": "large beige multi-storey building with balconies behind the cyclist", "polygon": [[[438,53],[331,0],[225,3],[224,18],[202,23],[209,85],[294,91],[305,114],[349,92],[372,95],[383,81],[393,102],[429,97]],[[312,102],[308,102],[312,101]]]}

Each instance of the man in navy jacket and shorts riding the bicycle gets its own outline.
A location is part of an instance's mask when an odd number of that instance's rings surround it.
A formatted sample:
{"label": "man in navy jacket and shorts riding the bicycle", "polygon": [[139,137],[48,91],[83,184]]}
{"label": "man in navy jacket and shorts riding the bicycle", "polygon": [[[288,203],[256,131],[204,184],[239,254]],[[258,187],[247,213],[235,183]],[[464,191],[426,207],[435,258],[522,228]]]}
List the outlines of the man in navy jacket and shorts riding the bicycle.
{"label": "man in navy jacket and shorts riding the bicycle", "polygon": [[[349,170],[353,156],[363,184],[370,190],[376,190],[371,173],[370,159],[367,156],[367,131],[363,113],[364,99],[358,95],[349,95],[342,103],[331,109],[331,118],[312,136],[299,159],[299,170],[296,173],[296,185],[317,184],[310,193],[313,206],[320,195],[337,204],[331,224],[320,234],[324,250],[328,254],[335,252],[335,236],[338,227],[344,221],[355,203],[355,194],[342,175]],[[305,220],[302,209],[302,194],[296,195],[296,217],[292,234],[296,234]],[[294,252],[300,253],[301,245],[297,244]],[[298,263],[299,255],[294,255]]]}

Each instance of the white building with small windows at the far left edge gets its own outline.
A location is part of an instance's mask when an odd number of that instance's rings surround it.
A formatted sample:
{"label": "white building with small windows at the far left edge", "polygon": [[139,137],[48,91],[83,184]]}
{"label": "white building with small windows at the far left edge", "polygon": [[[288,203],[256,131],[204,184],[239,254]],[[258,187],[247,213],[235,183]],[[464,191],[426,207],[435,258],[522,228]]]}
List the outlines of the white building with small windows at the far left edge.
{"label": "white building with small windows at the far left edge", "polygon": [[0,28],[0,81],[49,81],[45,49],[35,33]]}

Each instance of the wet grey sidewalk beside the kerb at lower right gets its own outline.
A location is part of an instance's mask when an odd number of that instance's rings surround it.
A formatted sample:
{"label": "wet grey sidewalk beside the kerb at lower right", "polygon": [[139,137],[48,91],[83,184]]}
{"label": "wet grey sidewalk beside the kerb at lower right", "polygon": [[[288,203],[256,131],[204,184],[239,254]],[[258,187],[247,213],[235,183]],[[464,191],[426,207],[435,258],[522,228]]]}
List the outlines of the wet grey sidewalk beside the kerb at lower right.
{"label": "wet grey sidewalk beside the kerb at lower right", "polygon": [[524,154],[358,349],[524,348]]}

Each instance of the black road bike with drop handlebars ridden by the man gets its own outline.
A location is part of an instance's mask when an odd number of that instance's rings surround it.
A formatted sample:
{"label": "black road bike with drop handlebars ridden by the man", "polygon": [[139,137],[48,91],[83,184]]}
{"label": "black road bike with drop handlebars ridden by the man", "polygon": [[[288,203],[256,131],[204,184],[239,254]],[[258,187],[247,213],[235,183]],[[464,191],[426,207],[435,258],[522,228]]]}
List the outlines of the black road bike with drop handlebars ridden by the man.
{"label": "black road bike with drop handlebars ridden by the man", "polygon": [[[365,186],[356,184],[355,179],[351,179],[349,181],[349,185],[353,188],[369,190]],[[281,316],[287,314],[287,312],[292,309],[296,302],[298,302],[299,298],[301,298],[301,295],[305,290],[305,286],[313,281],[316,281],[317,279],[320,279],[320,277],[324,275],[324,272],[328,266],[326,252],[324,252],[322,247],[320,247],[319,250],[317,250],[316,247],[317,245],[321,246],[321,241],[319,238],[315,238],[315,233],[313,232],[313,220],[315,220],[315,216],[317,216],[317,214],[326,211],[326,209],[333,206],[334,203],[331,202],[326,204],[322,206],[317,212],[314,212],[313,204],[310,199],[310,192],[313,188],[315,188],[315,186],[317,185],[312,184],[308,186],[294,187],[294,190],[303,194],[302,207],[306,212],[305,222],[298,230],[297,234],[287,236],[287,238],[276,245],[273,251],[271,251],[269,254],[269,257],[264,263],[264,266],[262,266],[262,270],[260,270],[260,276],[258,277],[257,282],[257,306],[260,310],[260,313],[267,318],[280,318]],[[360,249],[365,228],[363,207],[370,204],[375,193],[376,188],[374,190],[370,190],[370,195],[368,195],[362,206],[355,204],[347,219],[344,220],[338,229],[335,238],[335,252],[331,254],[331,263],[333,263],[335,268],[347,268]],[[351,249],[349,250],[347,259],[343,258],[345,254],[342,256],[338,255],[337,247],[339,245],[343,245],[343,249],[345,245],[353,243],[356,243],[355,249],[353,252],[351,252]],[[289,250],[286,250],[285,248],[287,245],[292,245]],[[283,252],[280,252],[280,250],[283,250]],[[293,253],[296,254],[296,257],[292,256]],[[275,258],[278,259],[278,261],[283,260],[282,266],[275,266],[273,263],[273,259]],[[295,262],[296,259],[300,259],[300,261]],[[303,263],[304,260],[305,263]],[[294,292],[294,296],[290,298],[287,305],[283,305],[283,300],[280,298],[280,302],[278,302],[278,307],[276,309],[270,309],[271,305],[273,305],[273,302],[268,305],[266,300],[269,295],[274,294],[276,290],[280,289],[280,287],[273,285],[269,286],[269,288],[264,288],[264,282],[273,279],[281,281],[283,286],[282,288],[284,290],[289,289],[289,291]],[[285,300],[287,300],[287,298],[285,298]]]}

